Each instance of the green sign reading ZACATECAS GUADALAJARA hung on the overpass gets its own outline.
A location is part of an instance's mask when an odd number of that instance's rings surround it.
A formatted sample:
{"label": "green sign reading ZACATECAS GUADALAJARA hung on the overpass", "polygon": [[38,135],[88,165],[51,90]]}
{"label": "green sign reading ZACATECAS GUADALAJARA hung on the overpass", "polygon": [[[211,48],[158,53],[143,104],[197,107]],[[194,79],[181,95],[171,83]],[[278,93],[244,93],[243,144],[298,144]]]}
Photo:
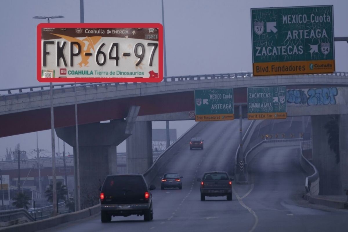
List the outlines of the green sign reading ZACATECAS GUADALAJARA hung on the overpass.
{"label": "green sign reading ZACATECAS GUADALAJARA hung on the overpass", "polygon": [[248,119],[285,119],[286,87],[248,88]]}

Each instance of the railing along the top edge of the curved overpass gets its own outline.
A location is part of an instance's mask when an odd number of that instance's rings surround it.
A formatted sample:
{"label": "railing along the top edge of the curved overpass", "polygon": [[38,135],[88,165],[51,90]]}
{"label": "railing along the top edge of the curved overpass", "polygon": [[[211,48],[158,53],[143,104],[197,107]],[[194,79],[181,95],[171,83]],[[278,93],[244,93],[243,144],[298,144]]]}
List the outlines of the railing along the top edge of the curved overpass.
{"label": "railing along the top edge of the curved overpass", "polygon": [[[332,76],[348,76],[348,72],[334,72],[334,73],[324,73],[324,74],[306,74],[306,75],[332,75]],[[164,77],[162,82],[173,82],[173,81],[189,81],[189,80],[206,80],[206,79],[239,79],[239,78],[252,78],[252,72],[236,72],[236,73],[220,73],[220,74],[203,74],[203,75],[187,75],[187,76],[175,76],[175,77]],[[98,87],[108,88],[109,86],[128,86],[128,85],[147,85],[148,83],[139,83],[139,82],[121,82],[121,83],[109,83],[109,82],[88,82],[88,83],[77,83],[76,87],[83,87],[86,90],[87,87],[92,87],[98,89]],[[72,89],[74,91],[73,83],[60,83],[53,85],[54,90],[61,90],[61,93],[64,93],[67,89]],[[0,96],[6,98],[6,96],[20,95],[31,93],[42,93],[49,91],[49,85],[43,86],[28,86],[28,87],[19,87],[19,88],[8,88],[0,89]]]}

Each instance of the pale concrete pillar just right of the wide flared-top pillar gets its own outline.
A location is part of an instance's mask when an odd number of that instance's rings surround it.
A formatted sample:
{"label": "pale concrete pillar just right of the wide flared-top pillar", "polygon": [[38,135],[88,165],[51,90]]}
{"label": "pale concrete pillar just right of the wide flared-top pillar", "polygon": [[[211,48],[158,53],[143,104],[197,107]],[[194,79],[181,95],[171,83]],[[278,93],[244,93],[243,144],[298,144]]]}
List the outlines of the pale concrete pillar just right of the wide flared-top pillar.
{"label": "pale concrete pillar just right of the wide flared-top pillar", "polygon": [[[164,138],[165,139],[165,138]],[[152,165],[151,121],[137,121],[126,140],[127,173],[144,173]]]}

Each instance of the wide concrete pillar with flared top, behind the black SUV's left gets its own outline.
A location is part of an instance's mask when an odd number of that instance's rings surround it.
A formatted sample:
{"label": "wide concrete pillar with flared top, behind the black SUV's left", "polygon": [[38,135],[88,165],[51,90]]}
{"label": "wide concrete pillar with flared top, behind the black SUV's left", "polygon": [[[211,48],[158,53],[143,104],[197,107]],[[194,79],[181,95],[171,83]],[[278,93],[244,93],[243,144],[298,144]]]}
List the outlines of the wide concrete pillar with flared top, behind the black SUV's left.
{"label": "wide concrete pillar with flared top, behind the black SUV's left", "polygon": [[[81,209],[98,204],[99,187],[105,177],[117,174],[116,146],[130,135],[125,133],[126,125],[127,122],[123,119],[79,125]],[[59,138],[73,146],[76,164],[75,127],[56,128],[56,133]],[[74,171],[77,171],[76,168]]]}

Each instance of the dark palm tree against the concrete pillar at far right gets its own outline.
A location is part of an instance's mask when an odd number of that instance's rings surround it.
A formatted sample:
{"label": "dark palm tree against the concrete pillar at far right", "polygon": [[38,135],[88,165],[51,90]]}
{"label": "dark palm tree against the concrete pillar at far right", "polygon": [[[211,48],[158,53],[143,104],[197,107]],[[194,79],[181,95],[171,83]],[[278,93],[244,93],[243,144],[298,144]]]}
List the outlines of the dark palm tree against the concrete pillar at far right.
{"label": "dark palm tree against the concrete pillar at far right", "polygon": [[327,143],[330,146],[330,150],[336,155],[336,163],[340,162],[340,139],[338,130],[338,115],[333,115],[330,120],[325,124],[326,134],[329,135]]}

